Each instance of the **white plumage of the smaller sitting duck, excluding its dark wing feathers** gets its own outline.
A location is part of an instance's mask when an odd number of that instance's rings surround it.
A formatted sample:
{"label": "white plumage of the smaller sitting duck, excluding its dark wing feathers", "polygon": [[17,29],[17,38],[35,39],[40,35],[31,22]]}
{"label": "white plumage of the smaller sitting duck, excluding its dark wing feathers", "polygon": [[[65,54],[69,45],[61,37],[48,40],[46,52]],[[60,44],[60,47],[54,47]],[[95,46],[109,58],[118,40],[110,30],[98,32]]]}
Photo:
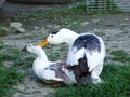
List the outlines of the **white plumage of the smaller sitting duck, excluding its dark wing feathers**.
{"label": "white plumage of the smaller sitting duck, excluding its dark wing feathers", "polygon": [[64,81],[64,79],[61,79],[60,77],[57,77],[56,72],[54,70],[50,69],[50,66],[52,66],[52,65],[56,66],[57,63],[56,61],[49,61],[48,57],[46,55],[46,52],[40,46],[35,46],[35,45],[28,44],[26,46],[26,50],[28,52],[37,55],[37,58],[35,59],[35,61],[32,64],[32,70],[34,70],[35,74],[40,80],[42,80],[46,83],[53,83],[55,81],[57,81],[57,82],[61,81],[61,82],[64,82],[66,84],[76,83],[76,80],[74,78],[75,74],[73,73],[73,71],[66,72],[66,70],[65,70],[66,68],[64,68],[65,71],[63,71],[63,72],[67,73],[66,75],[68,75],[68,78],[70,78],[69,81],[66,82],[66,81]]}

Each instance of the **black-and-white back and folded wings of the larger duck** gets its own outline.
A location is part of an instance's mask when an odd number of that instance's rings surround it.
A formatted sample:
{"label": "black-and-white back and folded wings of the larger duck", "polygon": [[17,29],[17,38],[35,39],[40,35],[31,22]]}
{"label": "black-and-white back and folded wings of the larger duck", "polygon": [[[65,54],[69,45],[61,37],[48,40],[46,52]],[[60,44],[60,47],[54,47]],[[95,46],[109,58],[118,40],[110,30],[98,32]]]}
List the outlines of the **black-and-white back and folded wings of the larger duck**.
{"label": "black-and-white back and folded wings of the larger duck", "polygon": [[89,71],[91,71],[100,63],[101,52],[101,40],[96,36],[81,34],[69,47],[67,64],[70,66],[78,65],[78,60],[86,57]]}

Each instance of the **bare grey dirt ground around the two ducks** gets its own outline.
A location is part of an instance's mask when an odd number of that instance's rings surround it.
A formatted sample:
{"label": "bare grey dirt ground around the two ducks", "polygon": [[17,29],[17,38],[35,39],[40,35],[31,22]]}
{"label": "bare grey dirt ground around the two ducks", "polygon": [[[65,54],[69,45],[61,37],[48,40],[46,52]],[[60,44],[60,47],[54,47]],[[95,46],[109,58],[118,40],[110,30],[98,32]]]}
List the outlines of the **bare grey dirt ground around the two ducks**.
{"label": "bare grey dirt ground around the two ducks", "polygon": [[[129,13],[93,15],[86,16],[83,18],[84,22],[82,25],[80,27],[73,28],[72,30],[79,33],[92,32],[102,37],[106,45],[106,56],[109,56],[109,52],[114,50],[125,50],[130,54]],[[25,33],[11,32],[9,36],[0,37],[0,41],[2,41],[8,46],[14,46],[18,50],[22,50],[27,43],[39,43],[54,28],[61,28],[61,25],[48,23],[47,19],[35,19],[30,23],[22,23],[26,30]],[[57,57],[57,59],[65,59],[67,46],[64,46],[64,53],[61,53],[60,46],[51,46],[51,53],[48,47],[46,47],[46,51],[48,55],[60,53],[60,57]],[[13,97],[44,97],[50,94],[50,92],[54,92],[54,88],[46,85],[35,77],[31,68],[29,68],[27,72],[28,74],[25,77],[23,83],[15,86],[15,88],[18,88],[18,91],[14,94]]]}

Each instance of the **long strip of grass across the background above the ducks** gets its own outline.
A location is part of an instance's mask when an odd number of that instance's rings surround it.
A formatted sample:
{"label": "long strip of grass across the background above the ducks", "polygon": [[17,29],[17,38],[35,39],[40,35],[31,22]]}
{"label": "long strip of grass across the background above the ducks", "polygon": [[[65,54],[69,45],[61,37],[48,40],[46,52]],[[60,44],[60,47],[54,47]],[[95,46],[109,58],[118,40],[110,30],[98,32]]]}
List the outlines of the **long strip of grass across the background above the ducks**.
{"label": "long strip of grass across the background above the ducks", "polygon": [[[112,11],[113,13],[120,13],[119,10],[118,11],[116,10],[117,12],[115,12],[115,9],[116,8],[112,9],[114,10]],[[112,12],[109,12],[109,10],[100,11],[100,14],[109,14]],[[76,27],[80,27],[84,23],[84,18],[82,18],[82,16],[86,17],[87,15],[98,15],[98,14],[99,14],[99,10],[87,12],[87,4],[81,2],[81,3],[73,4],[67,8],[51,9],[42,14],[31,13],[26,15],[25,14],[15,15],[14,19],[22,22],[24,20],[30,22],[35,19],[46,18],[49,19],[50,23],[60,25],[61,27],[76,28]]]}

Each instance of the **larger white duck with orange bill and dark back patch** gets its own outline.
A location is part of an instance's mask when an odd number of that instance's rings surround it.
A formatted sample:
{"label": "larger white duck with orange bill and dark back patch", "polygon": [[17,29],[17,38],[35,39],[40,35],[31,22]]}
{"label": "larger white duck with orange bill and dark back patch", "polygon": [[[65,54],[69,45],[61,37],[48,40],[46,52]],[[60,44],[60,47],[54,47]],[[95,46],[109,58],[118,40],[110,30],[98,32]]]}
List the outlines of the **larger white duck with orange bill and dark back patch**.
{"label": "larger white duck with orange bill and dark back patch", "polygon": [[39,43],[39,46],[61,43],[69,45],[67,65],[74,70],[76,80],[82,82],[82,78],[88,79],[90,75],[92,83],[100,83],[100,74],[105,58],[103,40],[93,33],[78,34],[69,29],[62,28],[57,32],[50,33],[46,41]]}

